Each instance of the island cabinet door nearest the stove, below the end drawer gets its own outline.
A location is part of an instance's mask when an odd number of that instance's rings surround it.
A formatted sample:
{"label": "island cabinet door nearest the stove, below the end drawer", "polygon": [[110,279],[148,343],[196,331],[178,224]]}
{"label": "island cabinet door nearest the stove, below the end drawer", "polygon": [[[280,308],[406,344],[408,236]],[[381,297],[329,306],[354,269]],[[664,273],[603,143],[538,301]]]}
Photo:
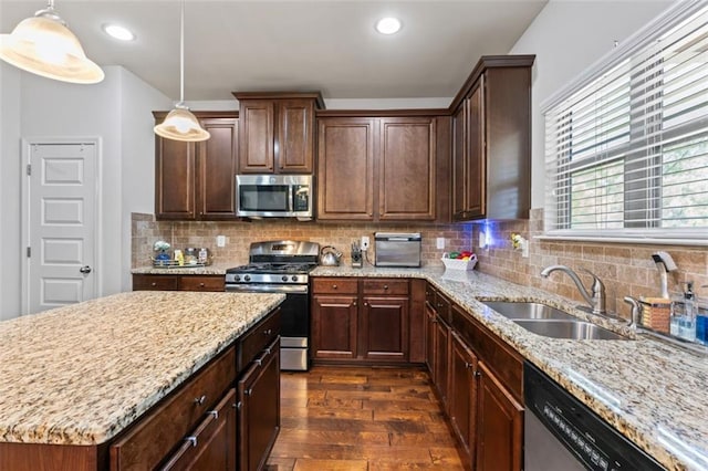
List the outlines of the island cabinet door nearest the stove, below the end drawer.
{"label": "island cabinet door nearest the stove, below the end drawer", "polygon": [[238,396],[239,470],[260,470],[280,431],[280,338],[241,377]]}

